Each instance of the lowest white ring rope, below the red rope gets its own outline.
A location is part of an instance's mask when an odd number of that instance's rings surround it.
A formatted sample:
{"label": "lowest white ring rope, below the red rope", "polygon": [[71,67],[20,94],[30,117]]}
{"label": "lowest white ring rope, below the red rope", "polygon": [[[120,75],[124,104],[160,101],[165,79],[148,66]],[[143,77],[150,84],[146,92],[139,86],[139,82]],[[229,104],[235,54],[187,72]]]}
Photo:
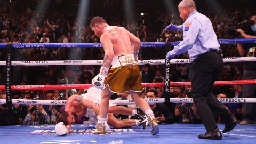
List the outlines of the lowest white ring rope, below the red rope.
{"label": "lowest white ring rope, below the red rope", "polygon": [[[145,99],[150,105],[154,103],[164,103],[164,98]],[[236,99],[218,99],[222,103],[256,103],[256,98],[236,98]],[[170,98],[172,103],[193,103],[192,98]],[[6,99],[0,99],[0,105],[6,103]],[[133,100],[110,100],[111,104],[115,105],[133,105]],[[12,99],[12,104],[21,105],[65,105],[66,100],[27,100],[27,99]]]}

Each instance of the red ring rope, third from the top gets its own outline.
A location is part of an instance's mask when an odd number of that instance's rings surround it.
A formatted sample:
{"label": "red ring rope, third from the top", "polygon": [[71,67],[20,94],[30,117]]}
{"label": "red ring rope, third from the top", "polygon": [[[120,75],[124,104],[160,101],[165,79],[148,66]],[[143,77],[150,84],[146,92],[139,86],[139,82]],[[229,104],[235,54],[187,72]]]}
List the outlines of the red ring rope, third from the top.
{"label": "red ring rope, third from the top", "polygon": [[[256,79],[216,81],[214,85],[255,84]],[[170,86],[191,85],[191,82],[170,82]],[[164,86],[164,83],[142,83],[142,86]],[[61,84],[61,85],[12,85],[11,90],[66,90],[66,89],[89,89],[92,84]],[[0,85],[0,90],[5,90],[5,85]]]}

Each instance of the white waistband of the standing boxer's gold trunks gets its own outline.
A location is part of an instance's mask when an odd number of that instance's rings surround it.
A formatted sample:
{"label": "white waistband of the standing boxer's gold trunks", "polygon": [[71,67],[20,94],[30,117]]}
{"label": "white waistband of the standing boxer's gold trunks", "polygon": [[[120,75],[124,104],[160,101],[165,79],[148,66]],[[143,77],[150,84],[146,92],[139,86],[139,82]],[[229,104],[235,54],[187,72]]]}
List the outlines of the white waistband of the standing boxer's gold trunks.
{"label": "white waistband of the standing boxer's gold trunks", "polygon": [[112,61],[112,67],[111,68],[116,68],[120,66],[127,66],[127,65],[135,65],[137,62],[135,61],[134,55],[117,55],[114,56],[113,61]]}

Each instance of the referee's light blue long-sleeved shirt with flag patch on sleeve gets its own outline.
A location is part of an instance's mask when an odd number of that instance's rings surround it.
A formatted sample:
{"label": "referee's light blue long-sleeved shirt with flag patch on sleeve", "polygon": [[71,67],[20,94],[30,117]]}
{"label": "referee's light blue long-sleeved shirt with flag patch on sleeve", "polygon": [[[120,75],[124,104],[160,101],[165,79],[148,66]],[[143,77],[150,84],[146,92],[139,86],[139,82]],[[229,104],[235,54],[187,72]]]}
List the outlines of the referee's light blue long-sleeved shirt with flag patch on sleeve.
{"label": "referee's light blue long-sleeved shirt with flag patch on sleeve", "polygon": [[182,25],[182,30],[183,40],[170,52],[172,58],[188,51],[190,59],[194,61],[207,51],[219,50],[220,45],[212,22],[196,10],[188,15]]}

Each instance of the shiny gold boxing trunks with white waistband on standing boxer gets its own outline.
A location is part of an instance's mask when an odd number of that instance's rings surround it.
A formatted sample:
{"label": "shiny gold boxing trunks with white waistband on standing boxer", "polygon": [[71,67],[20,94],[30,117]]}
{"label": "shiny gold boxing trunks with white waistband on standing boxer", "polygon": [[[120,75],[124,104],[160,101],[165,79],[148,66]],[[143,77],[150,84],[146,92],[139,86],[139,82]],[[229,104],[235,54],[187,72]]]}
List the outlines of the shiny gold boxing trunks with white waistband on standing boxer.
{"label": "shiny gold boxing trunks with white waistband on standing boxer", "polygon": [[113,93],[142,92],[140,69],[134,55],[115,56],[104,85]]}

